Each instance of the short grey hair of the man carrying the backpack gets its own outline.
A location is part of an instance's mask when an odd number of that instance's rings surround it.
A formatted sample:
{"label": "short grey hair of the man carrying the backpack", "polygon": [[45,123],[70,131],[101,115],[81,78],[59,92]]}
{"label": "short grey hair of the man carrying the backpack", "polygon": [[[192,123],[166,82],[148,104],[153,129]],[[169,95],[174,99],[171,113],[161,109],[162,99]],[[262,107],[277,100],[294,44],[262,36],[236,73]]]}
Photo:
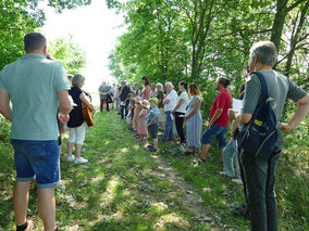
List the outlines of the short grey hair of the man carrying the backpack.
{"label": "short grey hair of the man carrying the backpack", "polygon": [[258,55],[258,62],[274,66],[277,59],[277,52],[275,46],[271,41],[259,41],[250,49],[249,65],[254,57]]}

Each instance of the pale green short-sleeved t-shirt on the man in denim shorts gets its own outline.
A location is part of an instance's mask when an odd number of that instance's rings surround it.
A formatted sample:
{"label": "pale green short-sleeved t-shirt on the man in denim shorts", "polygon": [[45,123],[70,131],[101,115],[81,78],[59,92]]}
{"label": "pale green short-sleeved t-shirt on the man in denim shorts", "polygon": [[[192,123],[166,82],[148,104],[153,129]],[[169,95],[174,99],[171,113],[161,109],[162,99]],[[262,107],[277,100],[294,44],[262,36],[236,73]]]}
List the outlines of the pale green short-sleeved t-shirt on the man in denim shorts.
{"label": "pale green short-sleeved t-shirt on the man in denim shorts", "polygon": [[25,54],[0,72],[0,89],[9,91],[12,102],[11,139],[58,139],[57,93],[70,89],[59,62]]}

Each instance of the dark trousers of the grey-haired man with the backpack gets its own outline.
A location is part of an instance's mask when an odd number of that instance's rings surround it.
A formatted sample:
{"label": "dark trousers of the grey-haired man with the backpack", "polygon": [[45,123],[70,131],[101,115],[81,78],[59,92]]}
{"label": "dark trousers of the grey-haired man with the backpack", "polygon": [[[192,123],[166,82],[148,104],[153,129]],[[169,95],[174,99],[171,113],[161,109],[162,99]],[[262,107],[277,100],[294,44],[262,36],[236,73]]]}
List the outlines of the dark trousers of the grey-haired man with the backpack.
{"label": "dark trousers of the grey-haired man with the backpack", "polygon": [[276,231],[277,215],[273,185],[280,154],[280,151],[273,153],[265,162],[244,150],[240,151],[252,231]]}

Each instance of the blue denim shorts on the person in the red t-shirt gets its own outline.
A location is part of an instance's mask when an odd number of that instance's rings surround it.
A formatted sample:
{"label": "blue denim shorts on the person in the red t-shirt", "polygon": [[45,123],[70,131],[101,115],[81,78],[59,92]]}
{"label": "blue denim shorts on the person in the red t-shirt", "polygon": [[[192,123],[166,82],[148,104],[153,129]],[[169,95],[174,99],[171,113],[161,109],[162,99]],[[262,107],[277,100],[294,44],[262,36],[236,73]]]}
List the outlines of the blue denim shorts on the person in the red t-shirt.
{"label": "blue denim shorts on the person in the red t-shirt", "polygon": [[227,133],[227,126],[222,127],[222,126],[213,124],[211,128],[207,128],[206,131],[202,133],[201,143],[210,144],[211,139],[215,136],[217,141],[219,143],[219,147],[225,147],[226,146],[226,133]]}

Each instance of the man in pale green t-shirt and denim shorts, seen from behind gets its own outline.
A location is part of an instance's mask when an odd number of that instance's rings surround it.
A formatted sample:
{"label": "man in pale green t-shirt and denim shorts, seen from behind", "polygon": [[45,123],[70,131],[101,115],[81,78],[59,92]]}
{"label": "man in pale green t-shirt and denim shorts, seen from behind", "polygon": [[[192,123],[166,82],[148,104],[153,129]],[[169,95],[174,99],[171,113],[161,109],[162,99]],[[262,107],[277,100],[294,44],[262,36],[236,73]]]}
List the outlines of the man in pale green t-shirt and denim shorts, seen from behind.
{"label": "man in pale green t-shirt and denim shorts, seen from behind", "polygon": [[[24,37],[25,52],[0,73],[0,113],[10,121],[14,147],[16,230],[27,230],[30,181],[37,180],[38,208],[45,230],[57,230],[54,185],[60,183],[57,112],[69,120],[70,85],[63,66],[47,56],[46,38]],[[10,106],[12,102],[12,107]]]}

